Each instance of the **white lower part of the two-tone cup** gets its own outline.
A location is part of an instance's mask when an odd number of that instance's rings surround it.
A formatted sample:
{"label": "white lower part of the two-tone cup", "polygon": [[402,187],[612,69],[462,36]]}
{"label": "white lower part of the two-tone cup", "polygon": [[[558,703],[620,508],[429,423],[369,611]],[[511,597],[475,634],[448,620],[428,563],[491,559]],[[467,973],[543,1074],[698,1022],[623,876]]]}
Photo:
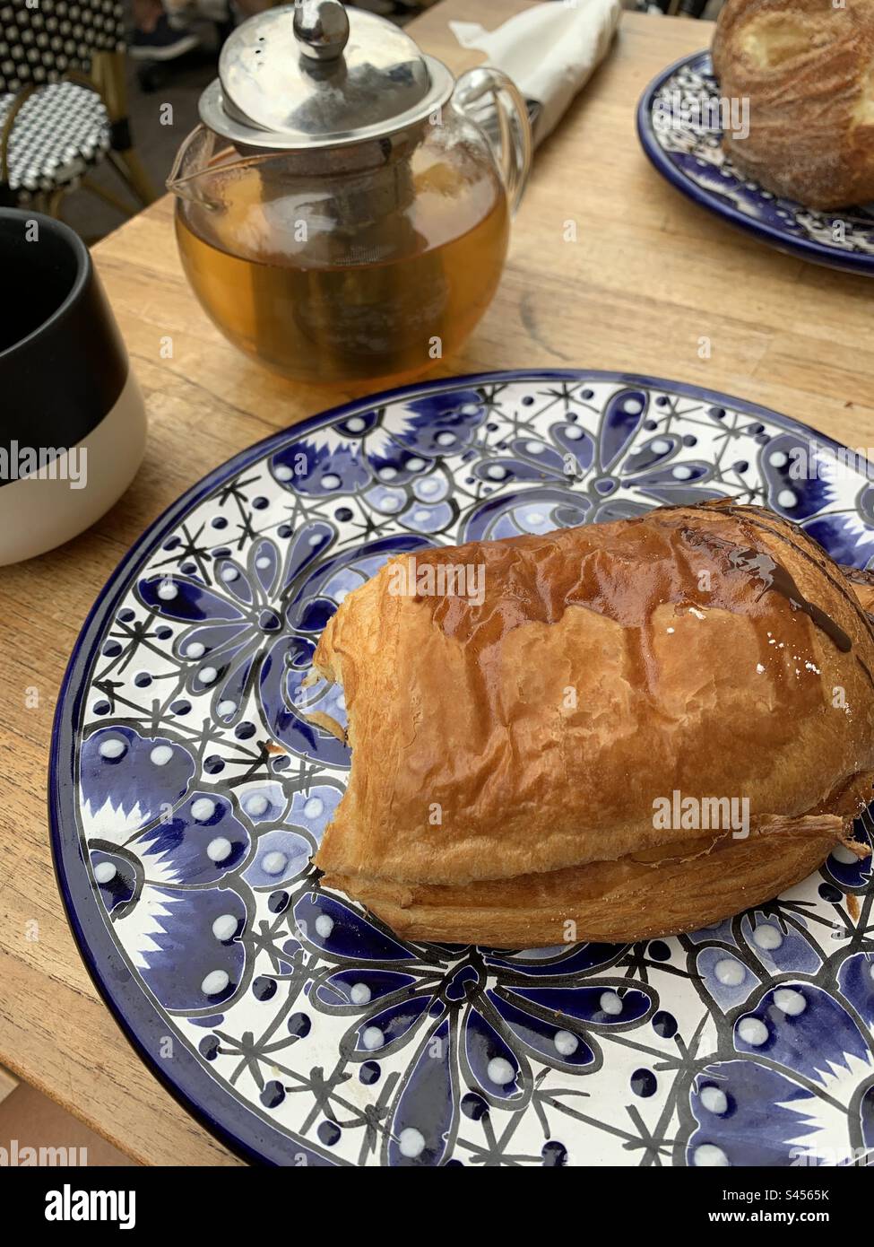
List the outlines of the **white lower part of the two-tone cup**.
{"label": "white lower part of the two-tone cup", "polygon": [[128,372],[115,407],[54,460],[54,479],[31,475],[0,486],[0,566],[45,554],[98,520],[136,476],[145,450],[146,408]]}

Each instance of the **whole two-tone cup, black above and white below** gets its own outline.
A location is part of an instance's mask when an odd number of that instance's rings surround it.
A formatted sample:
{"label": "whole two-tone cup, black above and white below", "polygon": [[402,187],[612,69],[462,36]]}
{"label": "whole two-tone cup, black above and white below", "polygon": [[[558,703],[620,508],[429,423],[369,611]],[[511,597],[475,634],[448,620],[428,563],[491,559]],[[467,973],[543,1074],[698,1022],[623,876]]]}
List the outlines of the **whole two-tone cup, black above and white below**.
{"label": "whole two-tone cup, black above and white below", "polygon": [[0,565],[51,550],[127,489],[146,412],[85,243],[0,208]]}

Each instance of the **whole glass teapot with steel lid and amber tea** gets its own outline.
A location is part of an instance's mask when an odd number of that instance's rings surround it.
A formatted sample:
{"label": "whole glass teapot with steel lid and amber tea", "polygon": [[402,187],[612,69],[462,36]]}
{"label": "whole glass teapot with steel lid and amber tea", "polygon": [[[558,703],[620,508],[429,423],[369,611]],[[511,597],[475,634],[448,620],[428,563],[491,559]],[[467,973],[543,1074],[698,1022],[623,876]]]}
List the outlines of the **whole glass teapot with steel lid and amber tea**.
{"label": "whole glass teapot with steel lid and amber tea", "polygon": [[531,161],[504,74],[458,82],[339,0],[243,22],[167,186],[186,276],[221,332],[286,377],[414,377],[485,312]]}

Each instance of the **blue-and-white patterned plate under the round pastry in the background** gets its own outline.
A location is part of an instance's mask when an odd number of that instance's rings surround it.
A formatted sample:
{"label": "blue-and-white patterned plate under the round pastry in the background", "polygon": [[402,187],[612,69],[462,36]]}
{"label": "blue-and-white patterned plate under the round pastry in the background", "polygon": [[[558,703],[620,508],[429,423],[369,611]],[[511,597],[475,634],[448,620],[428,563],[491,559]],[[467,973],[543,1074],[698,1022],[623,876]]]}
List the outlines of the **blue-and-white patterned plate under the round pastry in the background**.
{"label": "blue-and-white patterned plate under the round pastry in the background", "polygon": [[[637,108],[637,133],[658,172],[693,203],[759,242],[829,268],[874,273],[872,211],[817,212],[748,181],[726,153],[722,131],[707,126],[707,101],[718,96],[709,52],[683,57],[650,84]],[[658,125],[658,117],[671,123]]]}

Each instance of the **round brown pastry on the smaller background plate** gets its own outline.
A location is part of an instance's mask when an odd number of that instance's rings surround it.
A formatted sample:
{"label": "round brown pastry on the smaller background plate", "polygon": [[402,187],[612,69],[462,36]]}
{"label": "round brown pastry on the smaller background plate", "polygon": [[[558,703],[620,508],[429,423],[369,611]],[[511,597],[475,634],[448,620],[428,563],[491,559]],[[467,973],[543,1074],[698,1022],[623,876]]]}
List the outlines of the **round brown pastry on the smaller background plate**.
{"label": "round brown pastry on the smaller background plate", "polygon": [[874,200],[874,0],[727,0],[719,92],[749,101],[726,150],[749,177],[813,208]]}

